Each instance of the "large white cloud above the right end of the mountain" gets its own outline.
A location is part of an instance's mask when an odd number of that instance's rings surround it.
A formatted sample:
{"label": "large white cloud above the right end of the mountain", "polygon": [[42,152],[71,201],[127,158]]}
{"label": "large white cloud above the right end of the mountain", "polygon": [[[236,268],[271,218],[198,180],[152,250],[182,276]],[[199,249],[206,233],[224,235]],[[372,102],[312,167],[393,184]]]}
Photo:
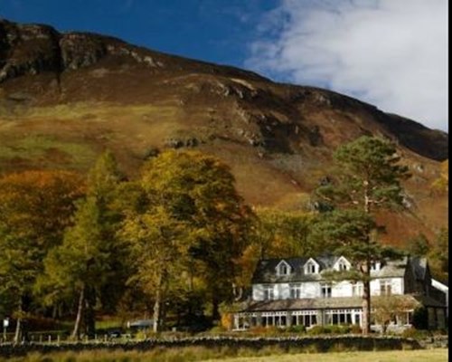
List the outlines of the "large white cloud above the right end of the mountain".
{"label": "large white cloud above the right end of the mountain", "polygon": [[285,0],[246,66],[447,131],[447,0]]}

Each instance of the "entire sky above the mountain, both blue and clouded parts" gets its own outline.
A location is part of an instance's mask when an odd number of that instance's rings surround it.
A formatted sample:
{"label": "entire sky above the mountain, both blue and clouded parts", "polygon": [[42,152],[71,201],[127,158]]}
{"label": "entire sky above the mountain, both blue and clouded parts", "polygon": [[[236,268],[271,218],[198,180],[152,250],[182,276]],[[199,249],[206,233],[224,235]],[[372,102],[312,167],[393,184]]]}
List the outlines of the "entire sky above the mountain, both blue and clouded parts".
{"label": "entire sky above the mountain, both blue and clouded parts", "polygon": [[0,0],[0,17],[328,88],[447,131],[447,7],[447,0]]}

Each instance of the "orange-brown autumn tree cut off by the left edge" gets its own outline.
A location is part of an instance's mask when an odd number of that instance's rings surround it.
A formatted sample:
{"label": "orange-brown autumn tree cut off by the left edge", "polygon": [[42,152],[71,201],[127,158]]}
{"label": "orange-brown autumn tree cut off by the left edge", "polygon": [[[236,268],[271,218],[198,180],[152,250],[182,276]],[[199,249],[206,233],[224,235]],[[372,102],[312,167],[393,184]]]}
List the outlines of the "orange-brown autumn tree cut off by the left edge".
{"label": "orange-brown autumn tree cut off by the left edge", "polygon": [[7,301],[4,309],[17,319],[15,342],[21,340],[43,258],[61,243],[74,201],[83,192],[81,176],[72,172],[27,171],[0,178],[0,302]]}

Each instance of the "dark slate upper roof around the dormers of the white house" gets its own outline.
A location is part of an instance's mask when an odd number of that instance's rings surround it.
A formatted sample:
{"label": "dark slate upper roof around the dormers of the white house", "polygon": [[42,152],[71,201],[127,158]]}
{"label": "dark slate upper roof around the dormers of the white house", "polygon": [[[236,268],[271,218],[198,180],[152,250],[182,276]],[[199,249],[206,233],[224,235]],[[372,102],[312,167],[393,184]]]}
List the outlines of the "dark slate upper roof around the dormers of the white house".
{"label": "dark slate upper roof around the dormers of the white house", "polygon": [[[335,262],[341,256],[324,255],[319,257],[297,257],[285,259],[265,259],[260,260],[256,271],[254,272],[252,283],[278,283],[278,282],[301,282],[301,281],[323,281],[321,272],[332,269]],[[320,266],[320,273],[305,274],[303,266],[309,259],[313,259]],[[346,258],[345,258],[346,259]],[[284,260],[290,265],[292,272],[288,275],[277,275],[276,267],[279,262]],[[379,271],[371,271],[371,276],[374,278],[391,278],[403,277],[409,258],[404,257],[397,261],[384,262]],[[426,262],[418,260],[416,263],[416,272],[419,277],[425,275]],[[424,270],[424,271],[422,271]],[[417,275],[418,275],[417,274]]]}

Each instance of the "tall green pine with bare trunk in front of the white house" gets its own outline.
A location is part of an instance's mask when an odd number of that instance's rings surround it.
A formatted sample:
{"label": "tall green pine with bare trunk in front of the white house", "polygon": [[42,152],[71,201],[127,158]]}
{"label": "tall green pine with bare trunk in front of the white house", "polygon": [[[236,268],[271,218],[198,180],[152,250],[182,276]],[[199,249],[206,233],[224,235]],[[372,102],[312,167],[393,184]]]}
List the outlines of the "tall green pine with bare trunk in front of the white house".
{"label": "tall green pine with bare trunk in front of the white house", "polygon": [[334,247],[352,257],[361,274],[363,334],[368,334],[371,265],[387,252],[372,239],[375,231],[372,215],[378,208],[401,208],[400,181],[409,177],[408,167],[400,165],[400,156],[389,141],[368,136],[339,147],[334,152],[334,162],[338,171],[333,180],[319,186],[315,195],[336,210],[350,210],[343,214],[335,211],[325,219],[330,223],[325,228],[325,239],[330,238],[335,242]]}

